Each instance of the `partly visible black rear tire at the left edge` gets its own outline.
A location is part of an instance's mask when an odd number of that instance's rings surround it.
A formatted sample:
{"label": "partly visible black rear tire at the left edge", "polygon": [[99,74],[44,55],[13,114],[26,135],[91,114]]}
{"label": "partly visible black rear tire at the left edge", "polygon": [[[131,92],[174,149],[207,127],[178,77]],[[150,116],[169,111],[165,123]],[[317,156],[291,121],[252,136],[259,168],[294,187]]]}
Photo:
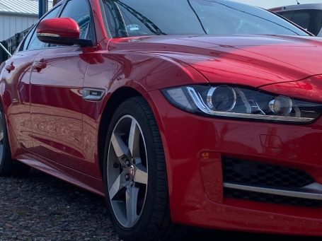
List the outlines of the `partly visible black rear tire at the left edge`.
{"label": "partly visible black rear tire at the left edge", "polygon": [[4,111],[1,105],[0,125],[3,130],[3,138],[2,140],[0,140],[0,146],[2,146],[2,153],[0,151],[0,177],[8,177],[11,175],[26,175],[29,172],[30,167],[11,158],[11,149],[8,139],[6,118],[4,116]]}

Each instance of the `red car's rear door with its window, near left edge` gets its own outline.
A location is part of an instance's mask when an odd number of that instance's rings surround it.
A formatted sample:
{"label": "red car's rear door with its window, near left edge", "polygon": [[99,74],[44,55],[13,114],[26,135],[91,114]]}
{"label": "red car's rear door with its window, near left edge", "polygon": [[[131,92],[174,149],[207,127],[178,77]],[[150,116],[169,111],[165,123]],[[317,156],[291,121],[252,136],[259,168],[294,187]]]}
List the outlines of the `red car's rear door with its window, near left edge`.
{"label": "red car's rear door with its window, near left edge", "polygon": [[[60,5],[53,8],[43,19],[54,18],[59,10]],[[12,128],[19,145],[27,150],[33,148],[30,121],[30,73],[33,60],[45,46],[35,36],[35,28],[36,26],[29,31],[13,57],[6,61],[1,79],[6,81],[3,101],[7,105],[8,128]],[[11,140],[11,146],[14,146],[13,143],[14,140]],[[16,148],[12,149],[16,150]]]}

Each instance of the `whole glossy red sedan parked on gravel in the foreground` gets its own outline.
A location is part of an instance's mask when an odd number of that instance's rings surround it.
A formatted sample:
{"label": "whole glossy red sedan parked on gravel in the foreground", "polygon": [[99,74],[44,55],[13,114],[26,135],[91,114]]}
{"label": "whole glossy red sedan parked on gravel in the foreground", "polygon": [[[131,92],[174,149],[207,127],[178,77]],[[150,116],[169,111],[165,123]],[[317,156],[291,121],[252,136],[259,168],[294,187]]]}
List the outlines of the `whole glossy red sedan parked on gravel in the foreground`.
{"label": "whole glossy red sedan parked on gravel in the foreground", "polygon": [[231,1],[61,1],[1,65],[0,175],[105,196],[125,240],[322,235],[321,56]]}

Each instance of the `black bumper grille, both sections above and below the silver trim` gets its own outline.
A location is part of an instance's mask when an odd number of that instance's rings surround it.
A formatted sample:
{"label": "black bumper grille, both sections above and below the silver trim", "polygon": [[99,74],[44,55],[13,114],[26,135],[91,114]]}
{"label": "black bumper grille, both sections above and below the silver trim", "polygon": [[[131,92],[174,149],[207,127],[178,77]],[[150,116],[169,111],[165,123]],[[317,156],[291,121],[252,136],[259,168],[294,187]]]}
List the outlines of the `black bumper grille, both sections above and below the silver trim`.
{"label": "black bumper grille, both sections above and below the silver trim", "polygon": [[[305,187],[316,182],[309,173],[282,165],[272,165],[236,158],[222,158],[222,164],[224,183],[238,184],[246,187],[251,186],[265,187],[269,189],[300,190],[301,187]],[[284,204],[311,208],[322,207],[322,201],[318,200],[245,191],[238,188],[233,189],[231,187],[224,188],[224,196],[226,198],[246,199],[271,204]]]}

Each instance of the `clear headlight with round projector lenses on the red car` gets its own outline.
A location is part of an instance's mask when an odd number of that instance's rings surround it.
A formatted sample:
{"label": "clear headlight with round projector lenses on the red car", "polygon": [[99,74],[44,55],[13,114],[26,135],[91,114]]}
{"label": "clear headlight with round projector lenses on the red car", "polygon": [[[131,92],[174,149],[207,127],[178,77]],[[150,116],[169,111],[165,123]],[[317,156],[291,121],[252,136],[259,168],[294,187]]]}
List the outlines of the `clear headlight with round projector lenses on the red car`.
{"label": "clear headlight with round projector lenses on the red car", "polygon": [[322,112],[322,104],[236,86],[183,86],[162,93],[182,110],[213,117],[309,123]]}

